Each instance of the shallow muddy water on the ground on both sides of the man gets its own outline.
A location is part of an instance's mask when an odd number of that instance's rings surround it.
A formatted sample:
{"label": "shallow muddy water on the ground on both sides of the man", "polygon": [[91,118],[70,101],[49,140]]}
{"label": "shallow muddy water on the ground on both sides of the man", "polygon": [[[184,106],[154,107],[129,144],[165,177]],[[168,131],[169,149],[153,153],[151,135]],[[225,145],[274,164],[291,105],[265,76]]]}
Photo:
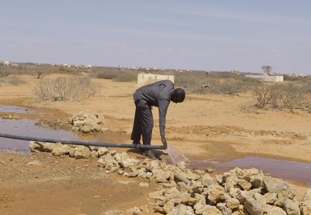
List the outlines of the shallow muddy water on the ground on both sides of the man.
{"label": "shallow muddy water on the ground on both sides of the man", "polygon": [[[17,106],[0,105],[0,112],[6,113],[35,113],[33,110],[21,108]],[[107,141],[114,142],[115,136],[110,134],[83,134],[80,132],[65,131],[61,129],[52,129],[36,125],[38,119],[0,119],[0,132],[8,134],[16,134],[22,136],[33,136],[52,139],[67,139],[67,140],[87,140],[87,141]],[[16,140],[0,137],[0,151],[6,150],[21,150],[24,154],[29,151],[29,141]],[[187,158],[176,148],[168,151],[170,157],[175,161],[184,160]],[[255,167],[262,169],[264,173],[269,173],[274,177],[279,177],[285,180],[305,182],[311,186],[311,163],[300,163],[294,161],[277,160],[272,158],[251,157],[234,159],[229,162],[216,162],[217,158],[206,160],[190,160],[187,164],[190,168],[204,169],[206,167],[214,167],[219,171],[228,171],[236,166],[239,167]]]}

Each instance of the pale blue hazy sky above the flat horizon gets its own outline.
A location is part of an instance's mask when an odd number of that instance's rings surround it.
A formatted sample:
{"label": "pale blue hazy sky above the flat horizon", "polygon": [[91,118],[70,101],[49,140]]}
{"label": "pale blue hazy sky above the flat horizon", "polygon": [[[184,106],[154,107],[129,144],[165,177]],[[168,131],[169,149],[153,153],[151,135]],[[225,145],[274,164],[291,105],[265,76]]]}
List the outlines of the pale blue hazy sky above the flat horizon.
{"label": "pale blue hazy sky above the flat horizon", "polygon": [[310,10],[310,0],[7,0],[0,60],[311,74]]}

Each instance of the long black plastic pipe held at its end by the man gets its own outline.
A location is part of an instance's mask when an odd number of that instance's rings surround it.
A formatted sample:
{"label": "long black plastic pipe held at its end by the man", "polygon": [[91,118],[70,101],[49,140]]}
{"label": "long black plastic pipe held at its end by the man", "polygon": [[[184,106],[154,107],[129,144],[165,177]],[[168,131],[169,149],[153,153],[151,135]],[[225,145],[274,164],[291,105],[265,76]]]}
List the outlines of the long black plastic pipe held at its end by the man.
{"label": "long black plastic pipe held at its end by the man", "polygon": [[48,142],[48,143],[61,142],[62,144],[83,145],[83,146],[134,148],[134,149],[164,149],[163,146],[151,146],[151,145],[141,145],[141,144],[121,144],[121,143],[96,143],[96,142],[74,141],[74,140],[57,140],[57,139],[40,138],[40,137],[18,136],[18,135],[7,134],[7,133],[0,133],[0,137],[18,139],[18,140]]}

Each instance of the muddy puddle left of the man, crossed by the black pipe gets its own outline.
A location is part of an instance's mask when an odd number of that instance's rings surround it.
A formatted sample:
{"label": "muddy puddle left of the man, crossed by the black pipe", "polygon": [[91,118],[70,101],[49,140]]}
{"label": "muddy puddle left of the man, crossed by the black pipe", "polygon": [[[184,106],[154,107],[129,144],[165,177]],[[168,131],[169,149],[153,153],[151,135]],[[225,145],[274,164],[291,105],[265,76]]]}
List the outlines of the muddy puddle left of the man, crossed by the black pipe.
{"label": "muddy puddle left of the man, crossed by the black pipe", "polygon": [[[67,140],[81,140],[78,135],[73,134],[71,131],[55,130],[50,128],[43,128],[36,126],[37,119],[19,119],[19,120],[3,120],[0,119],[0,132],[15,134],[20,136],[32,136],[41,138],[52,139],[67,139]],[[89,141],[97,141],[95,136],[92,136]],[[0,137],[0,152],[12,150],[22,150],[27,154],[29,152],[29,141],[17,140]]]}

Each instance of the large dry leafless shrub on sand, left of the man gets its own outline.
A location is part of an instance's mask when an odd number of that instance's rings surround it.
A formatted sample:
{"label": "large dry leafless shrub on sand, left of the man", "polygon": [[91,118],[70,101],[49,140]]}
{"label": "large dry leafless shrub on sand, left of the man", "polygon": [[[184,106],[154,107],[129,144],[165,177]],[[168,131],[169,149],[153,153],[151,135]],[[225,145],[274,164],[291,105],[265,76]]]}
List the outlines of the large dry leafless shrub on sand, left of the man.
{"label": "large dry leafless shrub on sand, left of the man", "polygon": [[100,92],[100,85],[89,77],[43,79],[32,88],[35,101],[80,101]]}

